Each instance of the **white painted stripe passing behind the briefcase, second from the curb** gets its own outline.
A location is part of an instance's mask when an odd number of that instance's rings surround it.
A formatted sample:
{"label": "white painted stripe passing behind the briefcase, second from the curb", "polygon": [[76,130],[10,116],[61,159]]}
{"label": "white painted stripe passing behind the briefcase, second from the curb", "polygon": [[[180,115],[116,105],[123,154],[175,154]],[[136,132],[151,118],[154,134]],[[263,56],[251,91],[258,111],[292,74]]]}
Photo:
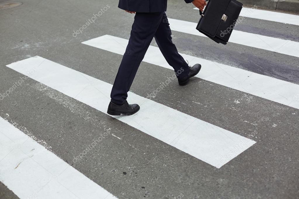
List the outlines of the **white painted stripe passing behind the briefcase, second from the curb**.
{"label": "white painted stripe passing behind the briefcase, second from the curb", "polygon": [[[168,18],[171,30],[206,37],[196,30],[197,23]],[[299,42],[234,30],[229,42],[299,57]]]}

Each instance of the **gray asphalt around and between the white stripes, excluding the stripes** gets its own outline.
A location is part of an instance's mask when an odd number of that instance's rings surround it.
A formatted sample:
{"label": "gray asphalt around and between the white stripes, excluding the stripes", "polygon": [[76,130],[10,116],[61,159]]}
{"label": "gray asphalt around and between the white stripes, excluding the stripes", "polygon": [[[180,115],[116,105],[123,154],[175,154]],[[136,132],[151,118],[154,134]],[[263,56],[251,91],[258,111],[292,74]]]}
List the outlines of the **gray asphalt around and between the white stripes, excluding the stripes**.
{"label": "gray asphalt around and between the white stripes, excluding the stripes", "polygon": [[[81,42],[105,34],[128,39],[134,15],[118,9],[117,1],[23,3],[0,10],[0,93],[21,76],[6,65],[35,55],[113,84],[122,56]],[[94,24],[73,37],[73,30],[107,4]],[[169,1],[167,16],[198,21],[197,11],[182,0]],[[298,42],[295,25],[245,18],[236,30]],[[298,57],[176,31],[173,42],[180,53],[299,84]],[[142,62],[131,91],[146,98],[171,75],[172,70]],[[254,133],[257,144],[216,169],[32,79],[0,101],[0,116],[44,140],[54,154],[118,198],[298,198],[298,109],[199,78],[187,87],[171,82],[152,100],[244,137]],[[122,140],[108,136],[73,162],[109,128]],[[1,183],[0,192],[0,198],[16,197]]]}

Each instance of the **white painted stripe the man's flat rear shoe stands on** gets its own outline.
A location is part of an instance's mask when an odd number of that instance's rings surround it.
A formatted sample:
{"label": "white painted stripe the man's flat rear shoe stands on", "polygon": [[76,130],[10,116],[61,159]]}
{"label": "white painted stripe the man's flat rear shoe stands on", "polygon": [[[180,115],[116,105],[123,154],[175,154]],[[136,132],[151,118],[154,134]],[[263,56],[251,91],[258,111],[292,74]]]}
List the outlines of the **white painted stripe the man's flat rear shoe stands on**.
{"label": "white painted stripe the man's flat rear shoe stands on", "polygon": [[[108,44],[110,45],[109,42]],[[30,78],[101,112],[107,111],[111,84],[38,56],[9,64],[7,67],[22,74],[27,74],[27,71],[35,67],[37,70]],[[129,101],[138,103],[141,110],[130,117],[115,116],[116,119],[217,168],[255,143],[132,92],[128,95]]]}

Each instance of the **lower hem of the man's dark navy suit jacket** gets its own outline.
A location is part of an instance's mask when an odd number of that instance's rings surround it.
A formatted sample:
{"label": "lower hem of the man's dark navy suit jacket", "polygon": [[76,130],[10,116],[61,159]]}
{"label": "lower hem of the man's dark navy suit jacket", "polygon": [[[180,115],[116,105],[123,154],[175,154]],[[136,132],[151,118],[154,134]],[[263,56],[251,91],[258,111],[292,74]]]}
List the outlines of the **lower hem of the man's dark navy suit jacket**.
{"label": "lower hem of the man's dark navy suit jacket", "polygon": [[[191,3],[193,0],[184,0]],[[118,7],[138,13],[164,12],[167,8],[167,0],[119,0]]]}

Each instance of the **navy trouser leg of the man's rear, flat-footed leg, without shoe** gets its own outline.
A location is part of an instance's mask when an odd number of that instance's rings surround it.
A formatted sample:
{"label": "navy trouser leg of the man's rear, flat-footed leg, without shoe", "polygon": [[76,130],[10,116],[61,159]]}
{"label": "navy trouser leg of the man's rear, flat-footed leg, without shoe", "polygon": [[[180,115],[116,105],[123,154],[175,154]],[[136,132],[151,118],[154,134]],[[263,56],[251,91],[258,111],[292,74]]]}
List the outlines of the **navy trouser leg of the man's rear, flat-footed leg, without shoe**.
{"label": "navy trouser leg of the man's rear, flat-footed leg, without shoe", "polygon": [[162,20],[160,13],[136,13],[126,52],[120,63],[112,91],[111,102],[121,105],[128,97],[138,67]]}

